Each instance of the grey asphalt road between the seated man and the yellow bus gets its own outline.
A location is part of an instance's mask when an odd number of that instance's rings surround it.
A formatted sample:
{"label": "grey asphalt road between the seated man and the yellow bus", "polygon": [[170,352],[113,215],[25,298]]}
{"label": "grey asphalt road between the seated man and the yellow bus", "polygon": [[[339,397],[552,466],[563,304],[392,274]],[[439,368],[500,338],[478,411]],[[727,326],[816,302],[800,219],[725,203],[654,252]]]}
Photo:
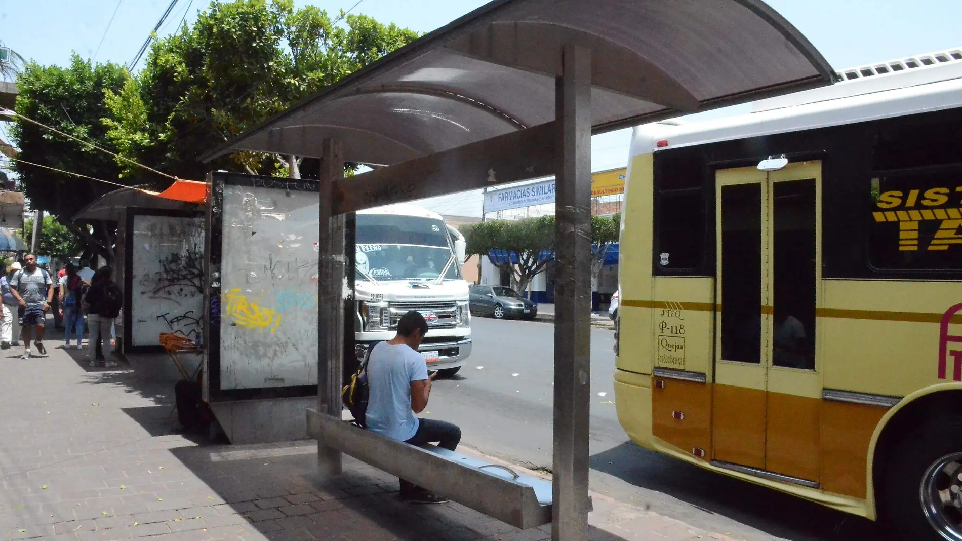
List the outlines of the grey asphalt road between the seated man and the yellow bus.
{"label": "grey asphalt road between the seated man and the yellow bus", "polygon": [[[468,364],[435,382],[423,415],[460,425],[464,445],[549,470],[554,325],[475,317],[472,338]],[[633,444],[615,410],[613,344],[611,330],[592,329],[592,490],[735,539],[890,539],[870,521]]]}

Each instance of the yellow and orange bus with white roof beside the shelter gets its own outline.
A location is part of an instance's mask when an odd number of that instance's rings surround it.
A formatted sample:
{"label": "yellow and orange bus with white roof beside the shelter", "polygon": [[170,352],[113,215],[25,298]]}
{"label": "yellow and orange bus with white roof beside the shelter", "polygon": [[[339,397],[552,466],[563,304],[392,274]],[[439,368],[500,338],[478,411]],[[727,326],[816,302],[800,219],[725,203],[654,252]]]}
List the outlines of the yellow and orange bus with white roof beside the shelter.
{"label": "yellow and orange bus with white roof beside the shelter", "polygon": [[962,51],[635,129],[615,394],[637,444],[962,539]]}

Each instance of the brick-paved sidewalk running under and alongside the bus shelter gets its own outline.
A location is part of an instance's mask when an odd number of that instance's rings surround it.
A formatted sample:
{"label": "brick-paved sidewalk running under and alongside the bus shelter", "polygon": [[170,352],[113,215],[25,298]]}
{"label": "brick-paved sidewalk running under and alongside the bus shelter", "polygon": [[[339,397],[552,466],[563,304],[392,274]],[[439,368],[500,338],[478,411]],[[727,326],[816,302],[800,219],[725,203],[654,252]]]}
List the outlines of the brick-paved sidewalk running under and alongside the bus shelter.
{"label": "brick-paved sidewalk running under and alongside the bus shelter", "polygon": [[[550,538],[550,526],[521,531],[456,503],[398,502],[396,478],[349,457],[342,477],[322,482],[313,442],[236,447],[175,433],[172,382],[123,363],[89,369],[86,350],[62,344],[30,360],[0,351],[0,539]],[[726,539],[593,496],[592,540]]]}

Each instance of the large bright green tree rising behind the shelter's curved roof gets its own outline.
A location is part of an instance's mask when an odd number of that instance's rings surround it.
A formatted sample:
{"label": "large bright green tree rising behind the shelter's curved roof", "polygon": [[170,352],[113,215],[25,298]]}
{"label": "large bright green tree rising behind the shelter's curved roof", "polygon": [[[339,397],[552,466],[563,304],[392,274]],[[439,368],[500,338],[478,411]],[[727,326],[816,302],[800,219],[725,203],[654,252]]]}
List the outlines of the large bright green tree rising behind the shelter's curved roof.
{"label": "large bright green tree rising behind the shelter's curved roof", "polygon": [[[180,178],[212,169],[276,174],[287,157],[198,157],[418,37],[365,15],[345,22],[311,6],[294,11],[290,0],[215,0],[192,28],[155,42],[122,90],[107,92],[109,138],[121,155]],[[119,165],[127,177],[149,175]]]}

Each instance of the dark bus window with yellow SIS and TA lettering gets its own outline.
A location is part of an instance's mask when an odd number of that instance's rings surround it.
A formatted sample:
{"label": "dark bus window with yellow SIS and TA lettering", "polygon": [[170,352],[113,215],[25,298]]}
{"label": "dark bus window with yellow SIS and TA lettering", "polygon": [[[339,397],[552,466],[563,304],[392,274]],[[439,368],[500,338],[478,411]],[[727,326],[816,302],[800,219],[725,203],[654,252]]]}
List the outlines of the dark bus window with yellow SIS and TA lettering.
{"label": "dark bus window with yellow SIS and TA lettering", "polygon": [[962,270],[962,167],[880,174],[869,188],[876,270]]}

